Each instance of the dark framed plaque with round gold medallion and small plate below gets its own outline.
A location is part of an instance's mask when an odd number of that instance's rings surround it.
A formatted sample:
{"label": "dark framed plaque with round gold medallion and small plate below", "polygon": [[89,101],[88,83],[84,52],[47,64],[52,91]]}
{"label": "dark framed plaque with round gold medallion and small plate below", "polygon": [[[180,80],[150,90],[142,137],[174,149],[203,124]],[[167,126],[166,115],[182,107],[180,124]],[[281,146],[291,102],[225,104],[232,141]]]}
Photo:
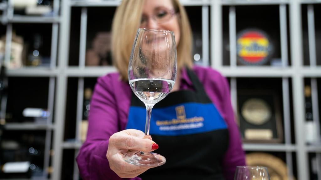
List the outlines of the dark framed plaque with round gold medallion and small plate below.
{"label": "dark framed plaque with round gold medallion and small plate below", "polygon": [[280,106],[273,90],[239,90],[237,110],[243,142],[282,143]]}

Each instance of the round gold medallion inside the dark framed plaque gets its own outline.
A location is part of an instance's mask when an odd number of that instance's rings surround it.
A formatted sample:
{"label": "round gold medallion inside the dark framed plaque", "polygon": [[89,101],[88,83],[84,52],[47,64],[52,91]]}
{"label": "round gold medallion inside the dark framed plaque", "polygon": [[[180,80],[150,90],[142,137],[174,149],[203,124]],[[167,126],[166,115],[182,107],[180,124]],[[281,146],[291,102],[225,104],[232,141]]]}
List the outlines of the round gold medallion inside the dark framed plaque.
{"label": "round gold medallion inside the dark framed plaque", "polygon": [[242,107],[244,119],[254,125],[262,125],[271,118],[271,109],[262,99],[252,98],[244,102]]}

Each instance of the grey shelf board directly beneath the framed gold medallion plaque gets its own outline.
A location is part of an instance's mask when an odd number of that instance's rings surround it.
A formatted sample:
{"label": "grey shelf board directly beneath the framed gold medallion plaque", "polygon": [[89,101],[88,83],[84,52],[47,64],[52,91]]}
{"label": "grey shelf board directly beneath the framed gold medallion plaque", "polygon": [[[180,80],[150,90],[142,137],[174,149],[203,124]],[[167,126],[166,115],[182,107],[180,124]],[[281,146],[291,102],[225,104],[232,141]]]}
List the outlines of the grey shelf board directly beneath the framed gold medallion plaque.
{"label": "grey shelf board directly beneath the framed gold medallion plaque", "polygon": [[244,151],[288,151],[296,150],[295,145],[287,144],[263,144],[263,143],[243,143]]}

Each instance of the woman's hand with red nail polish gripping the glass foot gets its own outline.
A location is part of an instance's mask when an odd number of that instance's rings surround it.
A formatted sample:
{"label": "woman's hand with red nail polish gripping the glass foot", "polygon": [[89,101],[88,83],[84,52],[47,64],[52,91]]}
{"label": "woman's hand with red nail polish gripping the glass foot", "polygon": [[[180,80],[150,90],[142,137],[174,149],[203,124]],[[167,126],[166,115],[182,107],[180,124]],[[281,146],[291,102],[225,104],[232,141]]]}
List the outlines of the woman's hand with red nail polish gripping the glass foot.
{"label": "woman's hand with red nail polish gripping the glass foot", "polygon": [[151,136],[145,136],[142,131],[126,129],[113,134],[109,138],[107,159],[110,169],[121,178],[134,178],[151,167],[136,166],[127,163],[123,156],[129,150],[151,152],[158,149]]}

